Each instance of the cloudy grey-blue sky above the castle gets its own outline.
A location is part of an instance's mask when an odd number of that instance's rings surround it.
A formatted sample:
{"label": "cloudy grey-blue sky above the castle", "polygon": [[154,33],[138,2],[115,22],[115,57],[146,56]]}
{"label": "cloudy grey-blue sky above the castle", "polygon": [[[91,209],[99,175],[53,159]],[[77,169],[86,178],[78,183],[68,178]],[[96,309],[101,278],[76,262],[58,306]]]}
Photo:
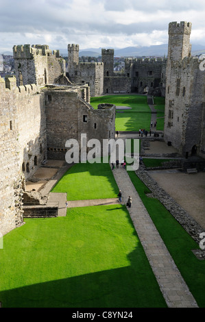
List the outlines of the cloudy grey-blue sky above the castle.
{"label": "cloudy grey-blue sky above the castle", "polygon": [[191,22],[191,43],[205,48],[204,20],[204,0],[0,0],[0,52],[24,44],[161,45],[171,21]]}

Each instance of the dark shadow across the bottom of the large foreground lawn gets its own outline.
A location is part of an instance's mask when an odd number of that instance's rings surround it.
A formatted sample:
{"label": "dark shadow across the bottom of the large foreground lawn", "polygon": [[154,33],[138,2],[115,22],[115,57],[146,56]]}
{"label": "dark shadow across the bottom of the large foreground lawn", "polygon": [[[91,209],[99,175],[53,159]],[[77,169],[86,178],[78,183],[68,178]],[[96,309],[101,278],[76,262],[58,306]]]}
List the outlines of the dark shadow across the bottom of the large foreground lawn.
{"label": "dark shadow across the bottom of the large foreground lawn", "polygon": [[[132,265],[34,284],[0,293],[4,308],[164,308],[157,282],[140,260],[141,247],[129,255]],[[85,259],[86,260],[86,259]],[[36,272],[38,274],[38,272]],[[152,287],[151,287],[152,286]]]}

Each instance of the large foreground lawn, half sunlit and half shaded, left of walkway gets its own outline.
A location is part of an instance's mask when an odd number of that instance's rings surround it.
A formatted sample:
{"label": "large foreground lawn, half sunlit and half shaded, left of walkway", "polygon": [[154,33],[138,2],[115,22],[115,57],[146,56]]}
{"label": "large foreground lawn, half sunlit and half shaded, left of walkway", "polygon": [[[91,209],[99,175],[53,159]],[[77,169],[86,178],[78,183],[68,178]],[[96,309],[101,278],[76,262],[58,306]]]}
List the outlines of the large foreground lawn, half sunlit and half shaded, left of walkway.
{"label": "large foreground lawn, half sunlit and half shaded, left of walkway", "polygon": [[4,308],[166,307],[125,206],[26,219],[3,241]]}

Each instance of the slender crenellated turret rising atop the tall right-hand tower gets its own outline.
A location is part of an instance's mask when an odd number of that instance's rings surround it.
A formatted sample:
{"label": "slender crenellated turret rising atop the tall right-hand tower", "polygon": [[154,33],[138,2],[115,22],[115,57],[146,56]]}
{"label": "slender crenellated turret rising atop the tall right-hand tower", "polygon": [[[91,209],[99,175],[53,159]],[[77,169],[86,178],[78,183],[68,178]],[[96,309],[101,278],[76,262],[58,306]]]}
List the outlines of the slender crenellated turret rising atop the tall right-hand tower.
{"label": "slender crenellated turret rising atop the tall right-hand tower", "polygon": [[191,23],[169,23],[168,60],[183,60],[191,55]]}

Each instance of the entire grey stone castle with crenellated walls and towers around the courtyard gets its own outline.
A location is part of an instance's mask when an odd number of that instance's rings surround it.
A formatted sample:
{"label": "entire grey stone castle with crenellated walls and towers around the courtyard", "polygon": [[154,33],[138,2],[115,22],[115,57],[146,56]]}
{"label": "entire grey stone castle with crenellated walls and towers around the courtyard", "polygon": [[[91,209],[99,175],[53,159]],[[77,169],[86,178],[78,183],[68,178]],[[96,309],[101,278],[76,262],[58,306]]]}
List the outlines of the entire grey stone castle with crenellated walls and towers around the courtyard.
{"label": "entire grey stone castle with crenellated walls and towers around the courtyard", "polygon": [[79,46],[68,45],[66,70],[47,45],[13,47],[15,77],[0,77],[1,234],[23,223],[25,181],[46,160],[64,160],[68,139],[82,149],[82,133],[88,140],[114,138],[115,106],[94,110],[91,96],[164,96],[165,142],[184,158],[205,157],[205,71],[191,56],[190,34],[191,23],[169,23],[167,58],[126,59],[121,76],[113,72],[113,49],[102,49],[101,62],[82,63]]}

